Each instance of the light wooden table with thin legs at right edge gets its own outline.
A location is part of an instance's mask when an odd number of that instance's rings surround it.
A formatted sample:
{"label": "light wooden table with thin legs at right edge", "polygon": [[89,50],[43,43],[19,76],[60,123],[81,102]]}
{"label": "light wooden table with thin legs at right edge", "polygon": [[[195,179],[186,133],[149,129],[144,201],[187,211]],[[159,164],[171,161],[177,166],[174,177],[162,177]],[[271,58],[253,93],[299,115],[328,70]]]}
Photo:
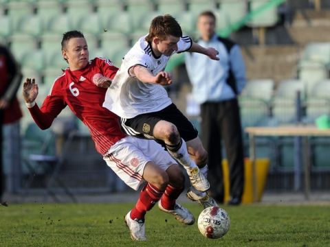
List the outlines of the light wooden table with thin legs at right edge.
{"label": "light wooden table with thin legs at right edge", "polygon": [[310,195],[310,158],[308,137],[330,137],[330,129],[320,130],[316,126],[276,126],[276,127],[247,127],[245,132],[249,134],[250,159],[253,169],[253,198],[257,200],[256,185],[256,143],[255,137],[303,137],[304,140],[304,160],[305,160],[305,198],[309,200]]}

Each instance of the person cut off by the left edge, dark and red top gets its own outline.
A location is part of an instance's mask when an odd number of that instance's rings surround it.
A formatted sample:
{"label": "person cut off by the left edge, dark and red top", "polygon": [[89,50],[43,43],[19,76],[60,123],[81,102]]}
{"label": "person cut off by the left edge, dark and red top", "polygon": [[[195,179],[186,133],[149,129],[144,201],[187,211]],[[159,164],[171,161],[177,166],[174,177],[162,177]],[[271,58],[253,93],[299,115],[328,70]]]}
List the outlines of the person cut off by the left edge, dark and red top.
{"label": "person cut off by the left edge, dark and red top", "polygon": [[[0,45],[0,137],[4,149],[0,145],[0,200],[5,190],[3,155],[8,162],[8,179],[6,189],[15,192],[19,186],[20,135],[19,119],[22,117],[16,93],[21,84],[22,75],[19,65],[10,51]],[[2,154],[4,150],[4,154]]]}

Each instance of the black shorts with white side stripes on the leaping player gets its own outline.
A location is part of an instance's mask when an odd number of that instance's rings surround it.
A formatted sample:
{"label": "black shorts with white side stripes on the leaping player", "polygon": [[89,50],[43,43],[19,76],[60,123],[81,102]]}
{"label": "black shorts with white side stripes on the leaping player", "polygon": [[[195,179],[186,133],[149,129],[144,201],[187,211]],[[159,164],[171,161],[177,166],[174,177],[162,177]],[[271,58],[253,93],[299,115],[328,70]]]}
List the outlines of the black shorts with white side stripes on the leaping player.
{"label": "black shorts with white side stripes on the leaping player", "polygon": [[121,118],[120,124],[126,134],[140,138],[155,139],[153,137],[153,128],[160,120],[174,124],[184,141],[190,141],[198,136],[195,126],[190,123],[175,104],[170,104],[163,110],[154,113],[137,115],[131,119]]}

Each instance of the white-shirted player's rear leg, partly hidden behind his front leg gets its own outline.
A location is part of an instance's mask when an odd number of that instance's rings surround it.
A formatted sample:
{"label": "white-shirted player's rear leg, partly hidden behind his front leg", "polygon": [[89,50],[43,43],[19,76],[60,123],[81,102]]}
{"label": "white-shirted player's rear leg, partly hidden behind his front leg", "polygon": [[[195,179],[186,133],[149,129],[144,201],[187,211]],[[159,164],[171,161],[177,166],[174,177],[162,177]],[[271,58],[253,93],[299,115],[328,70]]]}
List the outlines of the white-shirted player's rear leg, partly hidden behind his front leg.
{"label": "white-shirted player's rear leg, partly hidden behind his front leg", "polygon": [[[187,141],[188,153],[190,157],[198,165],[201,173],[207,178],[208,176],[208,153],[204,150],[203,145],[199,137]],[[219,207],[217,202],[211,198],[208,193],[199,191],[194,187],[190,187],[186,194],[187,198],[194,202],[198,202],[201,206],[206,209],[207,207]]]}

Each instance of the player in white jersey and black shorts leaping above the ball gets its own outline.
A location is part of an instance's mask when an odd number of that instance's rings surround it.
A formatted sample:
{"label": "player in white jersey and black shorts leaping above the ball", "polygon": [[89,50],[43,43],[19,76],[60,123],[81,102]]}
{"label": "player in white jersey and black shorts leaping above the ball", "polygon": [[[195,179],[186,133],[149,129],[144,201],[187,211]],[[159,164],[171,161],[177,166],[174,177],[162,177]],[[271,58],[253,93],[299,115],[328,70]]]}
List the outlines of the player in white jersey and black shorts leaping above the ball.
{"label": "player in white jersey and black shorts leaping above the ball", "polygon": [[187,171],[192,184],[188,198],[205,208],[217,205],[206,193],[210,188],[206,180],[207,152],[196,128],[177,109],[163,87],[172,83],[169,73],[164,71],[168,59],[183,51],[219,60],[216,49],[201,47],[190,37],[182,36],[173,16],[156,16],[148,35],[137,40],[124,56],[103,106],[120,116],[122,129],[127,134],[162,143]]}

